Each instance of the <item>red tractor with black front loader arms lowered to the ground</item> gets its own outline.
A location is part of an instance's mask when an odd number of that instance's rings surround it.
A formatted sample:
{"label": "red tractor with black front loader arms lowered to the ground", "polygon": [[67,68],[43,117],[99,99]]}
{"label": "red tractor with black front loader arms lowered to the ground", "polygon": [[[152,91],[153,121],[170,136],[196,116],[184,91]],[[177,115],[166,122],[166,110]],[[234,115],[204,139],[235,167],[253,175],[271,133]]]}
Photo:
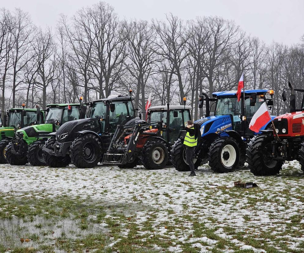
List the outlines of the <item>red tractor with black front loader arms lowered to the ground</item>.
{"label": "red tractor with black front loader arms lowered to the ground", "polygon": [[185,105],[153,106],[148,109],[147,121],[117,126],[102,164],[133,168],[142,163],[152,170],[165,167],[171,144],[191,119],[190,111],[191,107]]}

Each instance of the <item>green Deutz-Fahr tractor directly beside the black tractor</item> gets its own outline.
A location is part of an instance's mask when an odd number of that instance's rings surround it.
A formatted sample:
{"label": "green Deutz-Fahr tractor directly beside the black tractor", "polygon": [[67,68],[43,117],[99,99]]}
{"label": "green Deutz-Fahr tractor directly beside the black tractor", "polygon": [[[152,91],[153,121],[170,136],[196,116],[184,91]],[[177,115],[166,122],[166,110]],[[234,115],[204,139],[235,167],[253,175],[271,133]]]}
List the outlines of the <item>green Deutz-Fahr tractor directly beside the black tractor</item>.
{"label": "green Deutz-Fahr tractor directly beside the black tractor", "polygon": [[17,130],[16,137],[6,147],[7,162],[12,165],[45,165],[43,150],[39,146],[44,145],[50,138],[49,134],[56,132],[63,123],[84,119],[86,110],[87,107],[81,103],[47,105],[43,124],[36,122],[35,125]]}

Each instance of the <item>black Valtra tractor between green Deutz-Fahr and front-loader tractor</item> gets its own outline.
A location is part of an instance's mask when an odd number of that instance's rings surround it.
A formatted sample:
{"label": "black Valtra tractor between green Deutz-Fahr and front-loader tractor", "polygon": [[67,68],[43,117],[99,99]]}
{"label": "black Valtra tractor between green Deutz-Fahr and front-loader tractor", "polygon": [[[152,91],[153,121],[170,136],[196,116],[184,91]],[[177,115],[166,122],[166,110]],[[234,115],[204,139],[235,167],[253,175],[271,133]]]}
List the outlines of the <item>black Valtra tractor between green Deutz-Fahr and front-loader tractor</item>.
{"label": "black Valtra tractor between green Deutz-Fahr and front-loader tractor", "polygon": [[92,168],[107,152],[117,125],[135,121],[133,97],[110,96],[90,102],[90,118],[63,124],[42,149],[46,164],[65,167],[72,162],[78,168]]}

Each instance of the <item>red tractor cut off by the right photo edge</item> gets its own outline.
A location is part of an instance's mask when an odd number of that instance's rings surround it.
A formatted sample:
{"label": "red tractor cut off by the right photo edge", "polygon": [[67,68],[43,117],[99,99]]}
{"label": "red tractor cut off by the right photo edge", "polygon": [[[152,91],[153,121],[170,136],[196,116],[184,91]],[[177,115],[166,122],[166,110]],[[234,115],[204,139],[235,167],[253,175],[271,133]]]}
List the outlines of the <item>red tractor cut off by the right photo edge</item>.
{"label": "red tractor cut off by the right photo edge", "polygon": [[[301,109],[295,106],[295,91],[288,83],[291,91],[290,113],[276,117],[273,120],[273,130],[262,130],[262,134],[254,136],[246,150],[250,171],[257,176],[275,175],[280,173],[286,161],[297,160],[304,171],[304,96]],[[285,90],[282,94],[286,101]]]}

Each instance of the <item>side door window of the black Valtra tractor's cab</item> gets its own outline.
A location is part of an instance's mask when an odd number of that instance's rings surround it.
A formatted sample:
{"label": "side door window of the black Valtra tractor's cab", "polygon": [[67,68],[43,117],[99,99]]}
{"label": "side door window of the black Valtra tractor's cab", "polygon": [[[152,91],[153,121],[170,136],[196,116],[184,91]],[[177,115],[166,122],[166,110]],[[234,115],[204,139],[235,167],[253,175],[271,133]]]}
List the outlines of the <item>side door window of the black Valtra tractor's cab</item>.
{"label": "side door window of the black Valtra tractor's cab", "polygon": [[[110,112],[110,132],[115,132],[117,125],[121,125],[124,121],[134,115],[134,112],[129,111],[129,103],[131,101],[113,101],[112,104],[115,104],[114,112]],[[131,105],[132,107],[132,105]]]}

